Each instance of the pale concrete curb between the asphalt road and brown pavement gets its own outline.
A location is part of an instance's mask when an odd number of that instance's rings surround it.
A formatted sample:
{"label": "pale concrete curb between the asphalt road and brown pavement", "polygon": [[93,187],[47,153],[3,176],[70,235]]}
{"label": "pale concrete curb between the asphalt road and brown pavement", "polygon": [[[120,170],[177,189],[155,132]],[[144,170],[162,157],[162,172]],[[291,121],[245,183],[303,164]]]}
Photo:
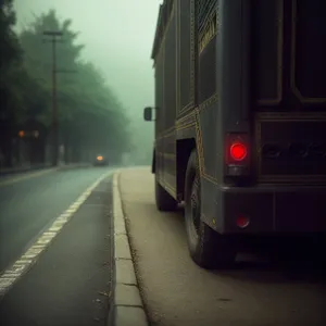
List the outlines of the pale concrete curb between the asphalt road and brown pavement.
{"label": "pale concrete curb between the asphalt road and brown pavement", "polygon": [[[122,199],[118,189],[121,171],[113,175],[114,267],[113,306],[108,326],[149,326],[140,297]],[[112,324],[111,324],[112,323]]]}

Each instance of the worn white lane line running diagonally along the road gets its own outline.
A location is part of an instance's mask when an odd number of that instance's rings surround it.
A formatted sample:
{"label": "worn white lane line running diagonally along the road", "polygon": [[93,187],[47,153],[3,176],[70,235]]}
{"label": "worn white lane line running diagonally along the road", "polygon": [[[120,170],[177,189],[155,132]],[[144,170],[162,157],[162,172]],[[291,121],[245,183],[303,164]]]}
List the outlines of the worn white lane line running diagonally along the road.
{"label": "worn white lane line running diagonally along the road", "polygon": [[51,226],[45,230],[40,237],[32,244],[28,250],[16,260],[11,267],[0,275],[0,296],[5,294],[18,278],[23,276],[37,261],[40,253],[43,252],[52,240],[58,236],[63,226],[73,217],[80,205],[91,195],[93,189],[113,172],[101,175],[90,187],[88,187],[70,208],[62,213]]}

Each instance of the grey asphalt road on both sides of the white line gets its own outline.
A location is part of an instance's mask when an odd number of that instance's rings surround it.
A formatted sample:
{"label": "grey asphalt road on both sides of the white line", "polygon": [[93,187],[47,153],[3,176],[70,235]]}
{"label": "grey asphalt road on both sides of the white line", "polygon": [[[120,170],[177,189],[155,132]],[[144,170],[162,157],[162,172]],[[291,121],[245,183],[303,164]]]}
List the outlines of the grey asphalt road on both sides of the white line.
{"label": "grey asphalt road on both sides of the white line", "polygon": [[[76,168],[1,185],[3,273],[108,168]],[[14,178],[13,178],[14,179]],[[0,302],[0,325],[105,325],[111,290],[111,177],[102,180]]]}

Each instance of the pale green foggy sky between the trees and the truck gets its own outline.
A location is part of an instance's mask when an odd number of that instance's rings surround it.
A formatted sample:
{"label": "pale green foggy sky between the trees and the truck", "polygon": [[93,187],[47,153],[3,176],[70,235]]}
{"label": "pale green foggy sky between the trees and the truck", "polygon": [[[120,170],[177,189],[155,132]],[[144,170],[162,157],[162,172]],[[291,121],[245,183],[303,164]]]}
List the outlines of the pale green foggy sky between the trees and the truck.
{"label": "pale green foggy sky between the trees and the truck", "polygon": [[[92,61],[108,78],[135,118],[154,104],[150,60],[160,0],[14,0],[17,28],[55,9],[62,20],[72,18],[86,47],[83,58]],[[136,117],[137,116],[137,117]]]}

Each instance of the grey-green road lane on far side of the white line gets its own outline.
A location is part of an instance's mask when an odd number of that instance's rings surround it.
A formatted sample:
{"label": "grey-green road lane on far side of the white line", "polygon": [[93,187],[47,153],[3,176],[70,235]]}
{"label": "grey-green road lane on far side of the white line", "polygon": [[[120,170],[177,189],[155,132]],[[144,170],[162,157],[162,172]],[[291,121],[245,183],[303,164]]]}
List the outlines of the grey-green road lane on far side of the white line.
{"label": "grey-green road lane on far side of the white line", "polygon": [[0,180],[0,271],[101,174],[101,168],[77,168],[33,174],[13,184],[7,178],[3,186]]}

